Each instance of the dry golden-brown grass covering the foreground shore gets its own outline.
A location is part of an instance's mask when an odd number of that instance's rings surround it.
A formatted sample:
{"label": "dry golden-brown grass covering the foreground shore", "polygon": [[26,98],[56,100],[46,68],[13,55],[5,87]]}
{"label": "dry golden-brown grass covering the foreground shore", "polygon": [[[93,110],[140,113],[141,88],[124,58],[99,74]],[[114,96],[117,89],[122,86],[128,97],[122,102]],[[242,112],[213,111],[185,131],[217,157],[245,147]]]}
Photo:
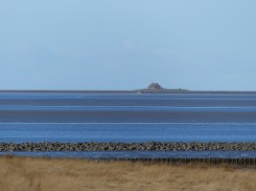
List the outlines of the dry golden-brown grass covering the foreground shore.
{"label": "dry golden-brown grass covering the foreground shore", "polygon": [[256,190],[255,169],[0,157],[0,190]]}

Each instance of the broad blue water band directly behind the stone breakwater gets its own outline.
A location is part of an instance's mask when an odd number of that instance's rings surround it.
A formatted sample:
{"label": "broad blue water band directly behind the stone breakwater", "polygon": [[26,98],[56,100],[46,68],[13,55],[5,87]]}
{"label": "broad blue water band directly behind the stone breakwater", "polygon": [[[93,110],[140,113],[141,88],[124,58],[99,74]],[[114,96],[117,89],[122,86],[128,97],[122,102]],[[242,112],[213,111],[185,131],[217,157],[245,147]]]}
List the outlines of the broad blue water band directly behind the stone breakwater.
{"label": "broad blue water band directly behind the stone breakwater", "polygon": [[256,141],[256,124],[2,123],[1,142]]}

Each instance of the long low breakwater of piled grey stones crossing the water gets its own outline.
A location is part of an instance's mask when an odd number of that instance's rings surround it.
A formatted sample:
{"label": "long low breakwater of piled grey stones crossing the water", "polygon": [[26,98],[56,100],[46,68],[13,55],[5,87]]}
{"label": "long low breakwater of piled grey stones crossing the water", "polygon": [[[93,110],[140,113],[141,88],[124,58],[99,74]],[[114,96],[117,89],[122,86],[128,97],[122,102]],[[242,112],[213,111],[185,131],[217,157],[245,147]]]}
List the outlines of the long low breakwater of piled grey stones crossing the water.
{"label": "long low breakwater of piled grey stones crossing the water", "polygon": [[0,142],[0,152],[36,151],[256,151],[256,142]]}

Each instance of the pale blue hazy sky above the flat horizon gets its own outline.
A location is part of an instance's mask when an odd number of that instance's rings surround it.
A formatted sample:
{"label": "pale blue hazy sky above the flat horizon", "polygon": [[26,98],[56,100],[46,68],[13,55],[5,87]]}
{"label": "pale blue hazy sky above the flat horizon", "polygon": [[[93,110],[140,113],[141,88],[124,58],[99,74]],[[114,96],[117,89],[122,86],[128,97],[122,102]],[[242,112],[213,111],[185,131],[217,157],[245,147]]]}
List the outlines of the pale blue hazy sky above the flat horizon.
{"label": "pale blue hazy sky above the flat horizon", "polygon": [[256,91],[255,0],[0,1],[0,89]]}

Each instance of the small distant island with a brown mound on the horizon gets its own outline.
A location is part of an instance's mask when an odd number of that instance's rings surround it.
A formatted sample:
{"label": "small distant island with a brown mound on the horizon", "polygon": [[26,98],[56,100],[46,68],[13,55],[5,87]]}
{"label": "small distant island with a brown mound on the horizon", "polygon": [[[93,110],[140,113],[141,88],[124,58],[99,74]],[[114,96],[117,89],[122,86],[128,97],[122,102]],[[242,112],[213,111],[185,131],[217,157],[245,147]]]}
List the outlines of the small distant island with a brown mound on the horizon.
{"label": "small distant island with a brown mound on the horizon", "polygon": [[137,90],[138,94],[143,94],[143,93],[170,93],[170,92],[187,92],[188,90],[185,89],[166,89],[163,88],[160,84],[152,82],[148,88],[146,89],[140,89]]}

